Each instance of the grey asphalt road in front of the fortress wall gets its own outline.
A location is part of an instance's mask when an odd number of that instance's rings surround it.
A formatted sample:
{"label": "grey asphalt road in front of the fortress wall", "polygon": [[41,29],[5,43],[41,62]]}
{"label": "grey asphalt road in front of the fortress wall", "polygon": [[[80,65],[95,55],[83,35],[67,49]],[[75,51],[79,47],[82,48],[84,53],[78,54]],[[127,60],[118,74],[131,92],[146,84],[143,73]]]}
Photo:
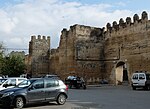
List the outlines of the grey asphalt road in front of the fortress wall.
{"label": "grey asphalt road in front of the fortress wall", "polygon": [[25,109],[150,109],[150,91],[133,91],[130,86],[101,86],[69,89],[65,105],[36,104]]}

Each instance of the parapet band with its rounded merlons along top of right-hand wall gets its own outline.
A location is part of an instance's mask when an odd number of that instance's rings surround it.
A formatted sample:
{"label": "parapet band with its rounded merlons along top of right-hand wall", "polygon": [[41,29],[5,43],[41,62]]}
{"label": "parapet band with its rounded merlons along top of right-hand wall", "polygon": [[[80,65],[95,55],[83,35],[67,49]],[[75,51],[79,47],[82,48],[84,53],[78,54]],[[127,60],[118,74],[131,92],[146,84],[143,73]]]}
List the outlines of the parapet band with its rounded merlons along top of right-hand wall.
{"label": "parapet band with its rounded merlons along top of right-hand wall", "polygon": [[110,23],[107,23],[106,25],[106,34],[108,36],[113,36],[114,34],[126,34],[126,33],[136,33],[138,31],[144,30],[146,27],[149,26],[150,23],[148,20],[148,14],[146,11],[143,11],[141,14],[141,19],[139,18],[138,14],[135,14],[133,16],[133,22],[130,17],[126,18],[126,21],[121,18],[119,20],[119,23],[117,21],[114,21],[112,25]]}

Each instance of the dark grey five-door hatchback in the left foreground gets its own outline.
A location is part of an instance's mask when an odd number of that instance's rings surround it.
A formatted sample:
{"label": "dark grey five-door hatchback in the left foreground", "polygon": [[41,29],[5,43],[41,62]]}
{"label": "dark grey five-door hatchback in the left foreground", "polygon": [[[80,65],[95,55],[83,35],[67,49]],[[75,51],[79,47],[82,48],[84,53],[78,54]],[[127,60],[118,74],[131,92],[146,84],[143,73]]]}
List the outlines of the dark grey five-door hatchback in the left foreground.
{"label": "dark grey five-door hatchback in the left foreground", "polygon": [[68,88],[59,79],[32,78],[15,88],[0,91],[0,104],[22,108],[28,103],[56,101],[63,105],[68,97]]}

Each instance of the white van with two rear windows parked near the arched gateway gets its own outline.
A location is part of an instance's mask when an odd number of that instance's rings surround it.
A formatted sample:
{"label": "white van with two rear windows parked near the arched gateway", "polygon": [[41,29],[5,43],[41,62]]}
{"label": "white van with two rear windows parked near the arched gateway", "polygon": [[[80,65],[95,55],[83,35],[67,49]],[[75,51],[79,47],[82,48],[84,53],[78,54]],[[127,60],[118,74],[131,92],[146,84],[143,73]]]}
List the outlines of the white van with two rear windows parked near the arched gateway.
{"label": "white van with two rear windows parked near the arched gateway", "polygon": [[136,90],[136,88],[139,87],[150,89],[150,74],[147,74],[145,72],[133,73],[131,82],[133,90]]}

